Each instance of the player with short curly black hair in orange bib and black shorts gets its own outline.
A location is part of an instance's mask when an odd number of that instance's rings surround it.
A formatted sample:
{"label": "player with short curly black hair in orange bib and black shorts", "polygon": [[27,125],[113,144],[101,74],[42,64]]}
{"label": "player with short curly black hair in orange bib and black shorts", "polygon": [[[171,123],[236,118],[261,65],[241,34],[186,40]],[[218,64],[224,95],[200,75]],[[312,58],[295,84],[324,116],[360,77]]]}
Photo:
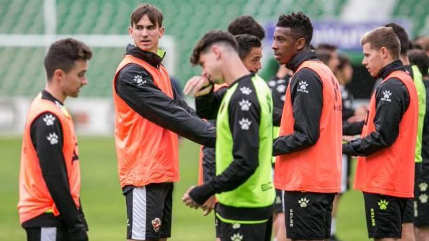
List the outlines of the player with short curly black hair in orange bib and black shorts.
{"label": "player with short curly black hair in orange bib and black shorts", "polygon": [[341,94],[331,70],[309,45],[312,23],[301,12],[281,15],[272,48],[295,74],[286,92],[274,185],[284,190],[287,237],[330,238],[332,202],[341,185]]}

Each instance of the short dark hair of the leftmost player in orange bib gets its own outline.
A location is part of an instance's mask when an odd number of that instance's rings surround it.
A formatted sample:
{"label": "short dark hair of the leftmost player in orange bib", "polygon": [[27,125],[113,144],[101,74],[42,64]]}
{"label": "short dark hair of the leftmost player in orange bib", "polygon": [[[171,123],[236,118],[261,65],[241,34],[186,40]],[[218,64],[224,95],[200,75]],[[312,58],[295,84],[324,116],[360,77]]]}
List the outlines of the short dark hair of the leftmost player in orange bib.
{"label": "short dark hair of the leftmost player in orange bib", "polygon": [[85,43],[74,38],[65,38],[51,44],[45,56],[44,65],[48,80],[58,69],[69,73],[77,60],[89,60],[92,51]]}

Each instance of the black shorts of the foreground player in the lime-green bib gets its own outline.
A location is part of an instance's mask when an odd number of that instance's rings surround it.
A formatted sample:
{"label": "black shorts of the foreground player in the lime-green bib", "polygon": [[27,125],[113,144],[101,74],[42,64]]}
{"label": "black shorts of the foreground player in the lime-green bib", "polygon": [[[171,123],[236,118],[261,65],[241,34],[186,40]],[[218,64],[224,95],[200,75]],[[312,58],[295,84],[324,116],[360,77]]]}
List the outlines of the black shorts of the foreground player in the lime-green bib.
{"label": "black shorts of the foreground player in the lime-green bib", "polygon": [[267,222],[240,224],[222,222],[216,217],[216,238],[224,241],[271,241],[273,217]]}

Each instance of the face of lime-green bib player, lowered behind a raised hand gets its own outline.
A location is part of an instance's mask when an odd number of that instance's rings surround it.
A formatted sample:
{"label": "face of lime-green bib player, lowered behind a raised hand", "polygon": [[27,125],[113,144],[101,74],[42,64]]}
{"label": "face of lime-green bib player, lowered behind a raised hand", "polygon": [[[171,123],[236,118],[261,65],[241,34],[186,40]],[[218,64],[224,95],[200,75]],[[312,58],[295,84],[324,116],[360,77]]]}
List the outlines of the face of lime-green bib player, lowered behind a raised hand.
{"label": "face of lime-green bib player, lowered behind a raised hand", "polygon": [[207,77],[210,82],[216,84],[224,82],[220,61],[212,50],[201,53],[198,64],[203,69],[202,75]]}

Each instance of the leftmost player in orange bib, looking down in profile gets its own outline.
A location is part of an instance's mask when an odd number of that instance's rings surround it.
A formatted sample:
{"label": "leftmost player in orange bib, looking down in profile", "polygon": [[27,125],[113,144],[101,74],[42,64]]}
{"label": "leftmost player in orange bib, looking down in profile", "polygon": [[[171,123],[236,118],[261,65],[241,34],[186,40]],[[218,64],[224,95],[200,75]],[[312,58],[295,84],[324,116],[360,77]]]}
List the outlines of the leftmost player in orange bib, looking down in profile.
{"label": "leftmost player in orange bib, looking down in profile", "polygon": [[87,241],[80,204],[78,144],[67,96],[88,83],[91,49],[73,39],[54,42],[45,56],[45,89],[30,106],[20,167],[20,223],[28,241]]}

